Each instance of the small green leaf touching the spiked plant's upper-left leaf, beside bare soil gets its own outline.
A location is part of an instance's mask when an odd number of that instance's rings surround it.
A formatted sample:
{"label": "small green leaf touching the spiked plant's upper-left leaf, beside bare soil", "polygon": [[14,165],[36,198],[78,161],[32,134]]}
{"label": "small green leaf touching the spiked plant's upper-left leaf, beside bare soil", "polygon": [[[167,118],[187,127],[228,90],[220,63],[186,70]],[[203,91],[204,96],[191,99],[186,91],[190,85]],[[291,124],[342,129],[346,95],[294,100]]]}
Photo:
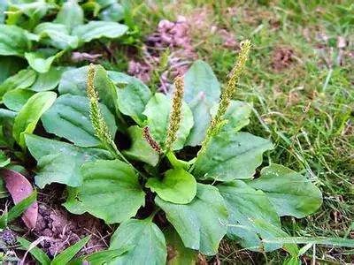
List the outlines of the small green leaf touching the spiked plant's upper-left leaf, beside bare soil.
{"label": "small green leaf touching the spiked plant's upper-left leaf, beside bare soil", "polygon": [[39,73],[38,78],[35,79],[35,83],[28,89],[36,92],[53,90],[58,86],[61,76],[66,69],[67,67],[62,66],[50,67],[50,71]]}

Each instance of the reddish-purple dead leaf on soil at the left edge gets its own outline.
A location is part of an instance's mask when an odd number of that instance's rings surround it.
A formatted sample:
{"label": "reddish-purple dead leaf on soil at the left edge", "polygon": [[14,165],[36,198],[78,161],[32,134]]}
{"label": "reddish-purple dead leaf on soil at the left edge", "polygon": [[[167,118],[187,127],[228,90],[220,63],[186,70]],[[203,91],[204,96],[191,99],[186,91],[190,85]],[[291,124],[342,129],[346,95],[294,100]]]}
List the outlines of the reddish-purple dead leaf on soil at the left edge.
{"label": "reddish-purple dead leaf on soil at the left edge", "polygon": [[[6,188],[12,195],[12,200],[15,204],[26,199],[34,192],[32,185],[27,178],[23,177],[19,172],[13,170],[1,170],[1,175],[4,178]],[[38,204],[35,201],[22,215],[23,222],[29,229],[35,228],[38,216]]]}

